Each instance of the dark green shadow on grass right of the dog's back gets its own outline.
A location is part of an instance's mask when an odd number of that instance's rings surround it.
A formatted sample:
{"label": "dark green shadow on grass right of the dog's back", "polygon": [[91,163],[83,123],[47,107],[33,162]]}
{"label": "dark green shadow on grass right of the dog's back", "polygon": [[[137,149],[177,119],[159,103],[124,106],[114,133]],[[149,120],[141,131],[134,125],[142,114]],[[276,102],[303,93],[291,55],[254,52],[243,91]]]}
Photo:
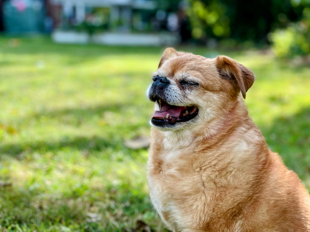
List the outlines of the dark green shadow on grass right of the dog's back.
{"label": "dark green shadow on grass right of the dog's back", "polygon": [[290,169],[302,179],[310,175],[310,108],[277,118],[271,127],[260,129],[270,149],[279,153]]}

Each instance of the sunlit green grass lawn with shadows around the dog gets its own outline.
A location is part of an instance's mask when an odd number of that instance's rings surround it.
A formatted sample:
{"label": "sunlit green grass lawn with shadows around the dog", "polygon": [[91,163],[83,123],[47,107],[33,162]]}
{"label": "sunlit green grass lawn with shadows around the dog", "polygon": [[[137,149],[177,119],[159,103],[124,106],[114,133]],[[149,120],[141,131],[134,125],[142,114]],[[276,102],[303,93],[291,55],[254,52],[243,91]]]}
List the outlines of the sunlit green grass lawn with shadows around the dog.
{"label": "sunlit green grass lawn with shadows around the dog", "polygon": [[[225,54],[252,69],[253,121],[310,189],[310,67],[261,51]],[[0,231],[131,231],[165,226],[146,182],[146,97],[163,48],[57,45],[0,38]]]}

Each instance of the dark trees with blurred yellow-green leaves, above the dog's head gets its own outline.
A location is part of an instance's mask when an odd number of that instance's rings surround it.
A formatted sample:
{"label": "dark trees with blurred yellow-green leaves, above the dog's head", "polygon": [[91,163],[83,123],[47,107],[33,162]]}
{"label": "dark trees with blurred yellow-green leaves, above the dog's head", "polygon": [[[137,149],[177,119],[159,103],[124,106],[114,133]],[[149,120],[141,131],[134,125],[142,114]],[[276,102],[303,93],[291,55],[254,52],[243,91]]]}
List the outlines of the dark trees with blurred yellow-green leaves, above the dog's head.
{"label": "dark trees with blurred yellow-green leaves, above the dog's head", "polygon": [[[303,6],[290,0],[189,0],[189,19],[195,39],[233,38],[267,42],[275,28],[302,18]],[[298,0],[295,0],[298,1]]]}

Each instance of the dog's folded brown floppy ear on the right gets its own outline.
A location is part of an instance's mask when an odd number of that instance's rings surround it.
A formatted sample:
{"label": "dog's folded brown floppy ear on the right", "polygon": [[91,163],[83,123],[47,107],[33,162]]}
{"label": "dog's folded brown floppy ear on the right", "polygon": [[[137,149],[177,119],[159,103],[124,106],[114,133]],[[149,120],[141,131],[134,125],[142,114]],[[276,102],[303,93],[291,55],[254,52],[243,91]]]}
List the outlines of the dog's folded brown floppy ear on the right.
{"label": "dog's folded brown floppy ear on the right", "polygon": [[254,83],[255,76],[253,72],[227,56],[218,56],[215,58],[215,62],[216,67],[219,69],[219,74],[224,79],[237,84],[240,88],[242,97],[246,99],[246,91],[248,91]]}

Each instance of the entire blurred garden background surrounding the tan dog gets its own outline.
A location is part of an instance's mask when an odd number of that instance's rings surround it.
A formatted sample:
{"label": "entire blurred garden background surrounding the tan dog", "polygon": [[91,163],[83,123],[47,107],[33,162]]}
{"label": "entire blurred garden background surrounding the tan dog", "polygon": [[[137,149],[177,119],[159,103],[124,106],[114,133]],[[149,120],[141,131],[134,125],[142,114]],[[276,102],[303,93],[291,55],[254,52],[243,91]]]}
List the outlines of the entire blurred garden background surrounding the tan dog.
{"label": "entire blurred garden background surrounding the tan dog", "polygon": [[227,55],[310,190],[310,0],[0,0],[0,231],[168,231],[148,196],[164,49]]}

